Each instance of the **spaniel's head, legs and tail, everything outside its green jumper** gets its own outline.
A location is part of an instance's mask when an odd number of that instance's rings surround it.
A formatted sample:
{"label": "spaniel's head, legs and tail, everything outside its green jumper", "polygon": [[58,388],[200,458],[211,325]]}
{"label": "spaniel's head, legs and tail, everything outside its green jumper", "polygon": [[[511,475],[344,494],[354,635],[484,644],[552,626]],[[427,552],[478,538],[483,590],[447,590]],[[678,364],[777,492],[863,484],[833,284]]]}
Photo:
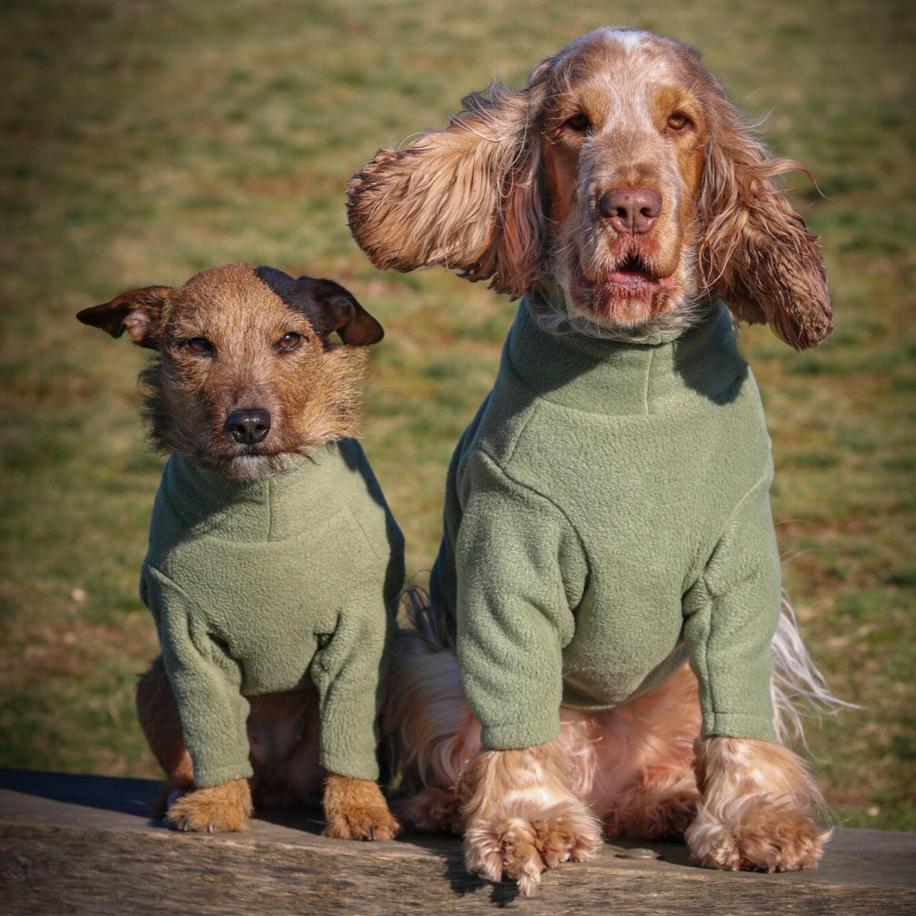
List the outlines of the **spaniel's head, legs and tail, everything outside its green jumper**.
{"label": "spaniel's head, legs and tail, everything outside its green jumper", "polygon": [[[549,327],[643,341],[721,297],[797,349],[832,317],[817,236],[699,54],[670,38],[598,29],[541,60],[523,90],[463,100],[444,130],[379,150],[347,188],[356,242],[377,267],[439,264],[554,309]],[[802,760],[778,744],[697,742],[697,684],[601,712],[561,710],[550,745],[482,750],[442,609],[407,596],[385,730],[404,774],[399,812],[465,835],[465,861],[526,893],[605,835],[686,836],[698,863],[814,864],[828,833]],[[777,730],[785,692],[828,706],[791,616],[773,641]],[[782,718],[780,718],[780,716]]]}

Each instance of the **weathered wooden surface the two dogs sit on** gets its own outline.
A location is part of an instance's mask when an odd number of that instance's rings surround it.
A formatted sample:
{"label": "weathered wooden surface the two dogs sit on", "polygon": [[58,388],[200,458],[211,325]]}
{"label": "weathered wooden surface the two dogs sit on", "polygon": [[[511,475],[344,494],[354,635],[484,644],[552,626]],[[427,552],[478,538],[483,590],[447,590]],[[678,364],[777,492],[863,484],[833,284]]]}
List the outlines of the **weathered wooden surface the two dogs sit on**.
{"label": "weathered wooden surface the two dogs sit on", "polygon": [[522,898],[468,876],[454,839],[329,840],[318,812],[258,817],[245,834],[178,834],[148,819],[157,789],[0,770],[0,912],[916,913],[916,834],[840,830],[821,867],[785,875],[690,867],[677,845],[653,844],[657,861],[621,859],[608,845]]}

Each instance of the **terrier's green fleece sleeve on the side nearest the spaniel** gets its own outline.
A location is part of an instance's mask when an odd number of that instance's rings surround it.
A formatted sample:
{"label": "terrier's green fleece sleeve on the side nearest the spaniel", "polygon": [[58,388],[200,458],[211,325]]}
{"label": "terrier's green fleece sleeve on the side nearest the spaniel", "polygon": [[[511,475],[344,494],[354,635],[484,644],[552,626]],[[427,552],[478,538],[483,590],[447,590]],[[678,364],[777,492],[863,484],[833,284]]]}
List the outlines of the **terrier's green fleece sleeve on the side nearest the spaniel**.
{"label": "terrier's green fleece sleeve on the side nearest the spaniel", "polygon": [[[378,582],[381,581],[380,577]],[[381,588],[376,600],[344,607],[311,662],[321,714],[322,766],[339,776],[377,780],[377,714],[387,674],[391,618]]]}

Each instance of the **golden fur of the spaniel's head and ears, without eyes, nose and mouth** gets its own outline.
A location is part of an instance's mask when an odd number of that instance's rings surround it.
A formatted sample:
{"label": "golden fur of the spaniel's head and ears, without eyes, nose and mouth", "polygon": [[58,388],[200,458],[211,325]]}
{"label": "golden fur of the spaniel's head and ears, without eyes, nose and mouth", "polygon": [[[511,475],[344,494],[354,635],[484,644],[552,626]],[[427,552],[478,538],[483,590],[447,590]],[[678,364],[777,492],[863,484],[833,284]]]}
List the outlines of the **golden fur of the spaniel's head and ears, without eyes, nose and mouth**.
{"label": "golden fur of the spaniel's head and ears, without eyes, nose and mouth", "polygon": [[[688,126],[671,129],[672,113]],[[570,127],[577,116],[587,130]],[[347,208],[377,267],[441,264],[512,296],[547,281],[573,322],[635,339],[695,321],[713,293],[803,349],[832,321],[817,237],[773,180],[791,169],[803,170],[769,158],[694,50],[597,29],[541,60],[525,89],[472,93],[447,129],[380,149]],[[646,234],[618,233],[598,201],[635,187],[660,193],[662,212]],[[631,256],[666,285],[609,283]]]}

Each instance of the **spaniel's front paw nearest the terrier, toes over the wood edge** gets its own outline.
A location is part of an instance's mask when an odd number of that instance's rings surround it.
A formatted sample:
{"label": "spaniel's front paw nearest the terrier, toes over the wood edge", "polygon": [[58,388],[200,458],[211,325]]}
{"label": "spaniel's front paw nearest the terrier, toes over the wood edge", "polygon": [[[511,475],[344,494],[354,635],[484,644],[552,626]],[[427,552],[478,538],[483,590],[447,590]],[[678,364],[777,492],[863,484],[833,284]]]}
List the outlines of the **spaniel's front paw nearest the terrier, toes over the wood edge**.
{"label": "spaniel's front paw nearest the terrier, toes over the wood edge", "polygon": [[531,821],[520,817],[471,821],[464,834],[464,865],[488,881],[512,878],[527,896],[537,888],[545,868],[569,859],[592,858],[601,842],[592,812],[571,798]]}

